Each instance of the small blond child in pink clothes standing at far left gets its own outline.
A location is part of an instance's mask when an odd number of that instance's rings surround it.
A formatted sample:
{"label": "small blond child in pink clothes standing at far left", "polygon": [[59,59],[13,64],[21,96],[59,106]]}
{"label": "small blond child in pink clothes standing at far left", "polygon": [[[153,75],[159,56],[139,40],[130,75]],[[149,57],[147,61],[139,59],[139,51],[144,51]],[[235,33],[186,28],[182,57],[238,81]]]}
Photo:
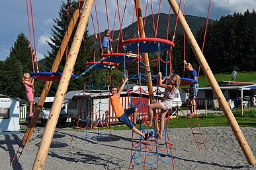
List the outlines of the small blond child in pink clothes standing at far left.
{"label": "small blond child in pink clothes standing at far left", "polygon": [[29,102],[29,117],[33,116],[33,104],[34,104],[34,96],[33,96],[33,86],[34,86],[34,78],[30,77],[30,74],[27,72],[23,74],[22,83],[25,86],[26,98]]}

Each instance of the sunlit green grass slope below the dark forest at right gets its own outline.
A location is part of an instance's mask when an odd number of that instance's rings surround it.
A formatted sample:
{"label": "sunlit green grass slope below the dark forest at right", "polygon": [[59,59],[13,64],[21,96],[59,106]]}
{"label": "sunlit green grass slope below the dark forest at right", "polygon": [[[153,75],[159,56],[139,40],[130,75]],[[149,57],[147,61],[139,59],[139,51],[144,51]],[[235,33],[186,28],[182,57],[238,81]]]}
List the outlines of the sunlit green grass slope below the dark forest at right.
{"label": "sunlit green grass slope below the dark forest at right", "polygon": [[[256,82],[255,74],[256,72],[237,72],[237,78],[235,79],[235,81],[236,82]],[[232,82],[231,76],[232,76],[232,72],[230,72],[229,74],[214,74],[214,77],[216,78],[217,82],[220,82],[222,80],[223,81],[230,80]],[[209,82],[205,75],[202,75],[202,76],[199,75],[198,83],[201,88],[209,85]],[[183,88],[183,86],[181,88]]]}

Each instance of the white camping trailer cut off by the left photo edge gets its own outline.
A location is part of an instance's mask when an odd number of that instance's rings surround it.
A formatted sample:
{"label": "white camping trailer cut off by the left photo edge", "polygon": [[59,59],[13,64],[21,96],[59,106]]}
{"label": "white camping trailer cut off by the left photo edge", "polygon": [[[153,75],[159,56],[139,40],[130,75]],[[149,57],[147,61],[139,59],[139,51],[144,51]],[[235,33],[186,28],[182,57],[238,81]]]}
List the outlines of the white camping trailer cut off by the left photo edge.
{"label": "white camping trailer cut off by the left photo edge", "polygon": [[12,96],[0,95],[0,133],[18,133],[20,102]]}

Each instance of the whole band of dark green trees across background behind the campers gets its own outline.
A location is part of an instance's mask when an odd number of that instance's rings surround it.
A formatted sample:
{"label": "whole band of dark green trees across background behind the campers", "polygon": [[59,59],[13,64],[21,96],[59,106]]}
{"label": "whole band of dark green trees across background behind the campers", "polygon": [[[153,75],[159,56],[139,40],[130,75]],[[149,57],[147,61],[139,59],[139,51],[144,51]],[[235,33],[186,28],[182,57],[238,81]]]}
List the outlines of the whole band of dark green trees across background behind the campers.
{"label": "whole band of dark green trees across background behind the campers", "polygon": [[[69,3],[69,17],[73,15],[77,2],[71,1]],[[69,20],[70,20],[69,18]],[[47,55],[44,55],[44,64],[40,65],[40,72],[49,72],[54,63],[54,59],[58,53],[58,49],[64,38],[65,30],[67,30],[67,3],[62,2],[59,11],[59,18],[54,19],[54,26],[52,28],[52,36],[48,42],[51,50]],[[160,22],[165,24],[165,22]],[[159,25],[159,27],[163,27]],[[75,27],[76,29],[76,27]],[[71,35],[69,43],[67,44],[67,51],[71,47],[74,32]],[[146,35],[147,33],[146,30]],[[255,40],[256,40],[256,15],[255,11],[245,11],[244,14],[234,13],[228,16],[222,16],[220,20],[210,22],[207,29],[206,41],[204,45],[204,57],[213,72],[228,72],[232,70],[236,71],[255,71]],[[172,32],[169,37],[172,38]],[[197,34],[196,40],[202,47],[202,40],[204,38],[204,26],[202,26]],[[175,35],[175,47],[172,53],[172,68],[173,72],[183,76],[183,33],[179,32]],[[186,47],[186,60],[192,63],[195,69],[198,69],[198,62],[192,53],[191,47],[188,43]],[[101,51],[95,49],[95,42],[93,36],[89,34],[89,30],[85,30],[84,40],[81,43],[79,53],[77,55],[77,61],[73,70],[73,74],[79,75],[88,67],[85,63],[91,61],[99,61]],[[58,72],[62,72],[65,66],[66,53],[60,63]],[[161,58],[165,59],[166,53],[161,53]],[[33,58],[33,61],[32,61]],[[149,59],[154,59],[154,54],[149,54]],[[5,61],[0,61],[0,94],[7,94],[17,96],[22,99],[26,99],[24,92],[24,86],[22,84],[22,74],[24,72],[33,72],[32,62],[34,62],[34,55],[30,53],[30,43],[28,38],[21,33],[17,36],[17,40],[12,45],[9,53],[9,57]],[[39,62],[42,63],[42,62]],[[127,63],[126,69],[129,76],[137,74],[137,64]],[[153,67],[157,63],[151,63],[151,72],[157,72],[157,69]],[[161,64],[161,71],[165,72],[166,65]],[[140,72],[145,73],[143,65],[140,63]],[[74,79],[69,82],[67,92],[70,90],[106,90],[107,86],[111,84],[119,85],[124,75],[124,64],[120,64],[119,67],[112,69],[90,69],[85,76]],[[130,80],[129,83],[136,83],[137,80]],[[155,82],[155,80],[153,81]],[[143,80],[142,83],[146,84]],[[35,81],[35,97],[40,97],[45,82]],[[58,88],[58,82],[54,82],[50,89],[48,96],[54,96]]]}

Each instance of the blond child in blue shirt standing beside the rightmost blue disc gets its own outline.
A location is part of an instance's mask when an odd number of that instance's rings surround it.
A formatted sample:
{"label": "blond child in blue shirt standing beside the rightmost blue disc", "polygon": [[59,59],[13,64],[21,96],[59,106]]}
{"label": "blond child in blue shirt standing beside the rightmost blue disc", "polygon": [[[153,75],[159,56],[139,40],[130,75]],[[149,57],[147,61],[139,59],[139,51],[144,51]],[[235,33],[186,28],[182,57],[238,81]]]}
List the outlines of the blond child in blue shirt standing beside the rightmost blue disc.
{"label": "blond child in blue shirt standing beside the rightmost blue disc", "polygon": [[[186,63],[186,69],[189,71],[189,78],[198,80],[197,72],[193,69],[191,63]],[[198,92],[198,82],[189,86],[189,99],[191,99],[191,113],[188,116],[192,117],[196,115],[196,96]]]}

